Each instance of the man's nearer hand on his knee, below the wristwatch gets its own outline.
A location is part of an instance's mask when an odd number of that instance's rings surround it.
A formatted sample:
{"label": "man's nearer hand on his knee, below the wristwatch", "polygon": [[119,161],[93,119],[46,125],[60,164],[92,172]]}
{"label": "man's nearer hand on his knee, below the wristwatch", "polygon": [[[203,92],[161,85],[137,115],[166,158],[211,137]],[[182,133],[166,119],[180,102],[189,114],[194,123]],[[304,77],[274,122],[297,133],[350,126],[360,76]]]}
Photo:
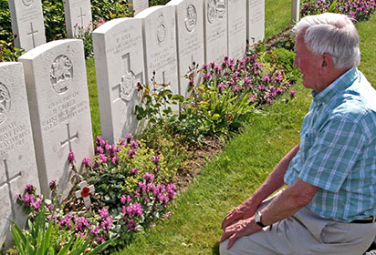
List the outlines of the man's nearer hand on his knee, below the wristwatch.
{"label": "man's nearer hand on his knee, below the wristwatch", "polygon": [[230,238],[227,245],[227,249],[230,249],[235,240],[243,236],[249,236],[259,230],[262,230],[262,228],[256,224],[254,217],[249,219],[240,219],[235,224],[225,229],[225,232],[222,234],[219,241],[223,242],[224,240]]}

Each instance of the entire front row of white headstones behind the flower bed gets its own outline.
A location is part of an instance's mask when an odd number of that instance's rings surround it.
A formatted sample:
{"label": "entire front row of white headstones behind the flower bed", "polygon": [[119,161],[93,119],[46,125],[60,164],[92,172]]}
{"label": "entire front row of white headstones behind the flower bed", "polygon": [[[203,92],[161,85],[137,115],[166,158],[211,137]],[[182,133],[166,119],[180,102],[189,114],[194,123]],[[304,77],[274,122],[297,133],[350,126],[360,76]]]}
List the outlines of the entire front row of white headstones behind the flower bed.
{"label": "entire front row of white headstones behind the flower bed", "polygon": [[[263,19],[264,0],[257,2]],[[148,81],[154,70],[157,80],[182,93],[186,88],[178,86],[178,66],[184,70],[192,60],[204,63],[227,55],[227,29],[243,44],[235,44],[234,54],[244,56],[245,0],[225,4],[173,1],[148,8],[135,18],[115,19],[94,32],[102,134],[110,134],[104,138],[121,138],[137,127],[132,114],[138,102],[136,81]],[[209,53],[204,54],[204,49]],[[0,201],[0,244],[9,240],[10,222],[22,224],[24,220],[15,198],[26,184],[47,195],[49,181],[56,179],[58,192],[67,195],[69,152],[74,152],[78,165],[83,158],[93,157],[82,41],[49,42],[18,61],[22,64],[0,64],[0,194],[4,198]],[[108,132],[116,128],[118,133]]]}

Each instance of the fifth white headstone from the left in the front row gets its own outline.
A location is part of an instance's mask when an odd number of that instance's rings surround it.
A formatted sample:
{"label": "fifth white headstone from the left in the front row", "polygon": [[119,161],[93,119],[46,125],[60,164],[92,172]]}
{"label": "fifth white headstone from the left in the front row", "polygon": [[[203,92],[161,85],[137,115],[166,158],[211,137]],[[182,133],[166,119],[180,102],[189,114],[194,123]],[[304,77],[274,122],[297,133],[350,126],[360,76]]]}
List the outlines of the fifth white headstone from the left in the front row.
{"label": "fifth white headstone from the left in the front row", "polygon": [[204,64],[204,23],[202,0],[172,0],[175,7],[178,76],[181,94],[188,93],[189,81],[184,76],[193,62]]}

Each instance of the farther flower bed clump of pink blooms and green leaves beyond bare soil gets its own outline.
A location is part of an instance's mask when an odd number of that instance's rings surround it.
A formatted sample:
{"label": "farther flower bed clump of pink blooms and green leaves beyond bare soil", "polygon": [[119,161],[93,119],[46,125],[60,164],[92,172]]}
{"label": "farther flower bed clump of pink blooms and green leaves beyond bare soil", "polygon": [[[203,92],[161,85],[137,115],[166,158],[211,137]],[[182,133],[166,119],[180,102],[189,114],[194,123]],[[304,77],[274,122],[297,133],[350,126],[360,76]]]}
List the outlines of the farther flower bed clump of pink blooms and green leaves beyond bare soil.
{"label": "farther flower bed clump of pink blooms and green leaves beyond bare soil", "polygon": [[[242,127],[255,107],[271,104],[291,87],[282,66],[281,56],[267,62],[263,47],[244,59],[225,57],[220,65],[212,62],[201,69],[194,65],[187,77],[190,95],[172,95],[167,85],[152,79],[151,87],[141,89],[141,105],[135,107],[139,119],[146,119],[147,128],[161,129],[170,137],[180,137],[188,146],[196,146],[205,136],[225,136]],[[272,60],[269,57],[269,61]],[[202,74],[203,82],[193,86],[194,76]],[[180,113],[172,106],[181,104]]]}

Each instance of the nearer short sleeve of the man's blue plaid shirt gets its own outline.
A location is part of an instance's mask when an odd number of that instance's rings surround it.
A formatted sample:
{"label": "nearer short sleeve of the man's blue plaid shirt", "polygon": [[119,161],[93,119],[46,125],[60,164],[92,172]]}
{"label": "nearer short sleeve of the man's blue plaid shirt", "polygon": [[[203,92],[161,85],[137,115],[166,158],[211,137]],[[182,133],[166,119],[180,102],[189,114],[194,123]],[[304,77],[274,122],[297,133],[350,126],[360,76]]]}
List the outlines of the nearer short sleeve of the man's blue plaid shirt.
{"label": "nearer short sleeve of the man's blue plaid shirt", "polygon": [[360,124],[348,117],[332,117],[319,129],[312,143],[299,178],[338,192],[365,143]]}

